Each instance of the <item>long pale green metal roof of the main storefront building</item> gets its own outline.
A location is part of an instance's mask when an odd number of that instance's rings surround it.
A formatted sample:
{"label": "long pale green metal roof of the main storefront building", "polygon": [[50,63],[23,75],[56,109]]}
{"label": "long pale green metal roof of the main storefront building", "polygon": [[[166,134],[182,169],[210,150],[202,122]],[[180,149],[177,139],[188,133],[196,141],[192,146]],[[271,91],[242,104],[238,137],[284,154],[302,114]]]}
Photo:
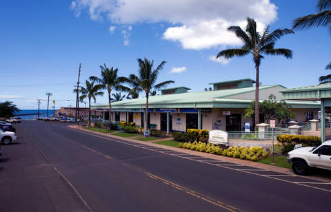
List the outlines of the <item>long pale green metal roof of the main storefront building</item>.
{"label": "long pale green metal roof of the main storefront building", "polygon": [[[268,89],[279,85],[260,86],[259,89]],[[232,108],[245,108],[250,105],[252,100],[240,100],[224,98],[237,94],[254,92],[255,87],[245,87],[236,89],[222,89],[207,92],[189,92],[183,94],[171,94],[161,96],[150,96],[148,98],[148,106],[150,108],[212,108],[212,107],[232,107]],[[145,108],[146,97],[135,98],[131,100],[122,100],[120,102],[112,103],[114,109],[133,109]],[[301,104],[302,105],[302,104]],[[310,105],[316,107],[319,103],[305,102],[303,105]],[[94,105],[93,108],[108,107],[105,105]],[[298,106],[299,107],[299,106]]]}

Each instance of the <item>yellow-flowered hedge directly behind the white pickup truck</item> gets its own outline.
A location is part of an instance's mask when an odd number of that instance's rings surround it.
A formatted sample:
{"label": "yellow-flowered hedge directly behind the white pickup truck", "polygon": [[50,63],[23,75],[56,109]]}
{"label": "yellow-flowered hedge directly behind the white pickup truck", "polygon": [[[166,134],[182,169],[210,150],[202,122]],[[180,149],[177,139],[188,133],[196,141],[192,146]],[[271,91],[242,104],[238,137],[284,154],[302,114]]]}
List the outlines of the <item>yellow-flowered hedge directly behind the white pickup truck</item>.
{"label": "yellow-flowered hedge directly behind the white pickup truck", "polygon": [[300,135],[279,135],[277,136],[279,144],[277,145],[281,149],[281,153],[287,154],[294,149],[297,144],[302,144],[303,147],[317,147],[321,145],[321,138],[318,136],[300,136]]}

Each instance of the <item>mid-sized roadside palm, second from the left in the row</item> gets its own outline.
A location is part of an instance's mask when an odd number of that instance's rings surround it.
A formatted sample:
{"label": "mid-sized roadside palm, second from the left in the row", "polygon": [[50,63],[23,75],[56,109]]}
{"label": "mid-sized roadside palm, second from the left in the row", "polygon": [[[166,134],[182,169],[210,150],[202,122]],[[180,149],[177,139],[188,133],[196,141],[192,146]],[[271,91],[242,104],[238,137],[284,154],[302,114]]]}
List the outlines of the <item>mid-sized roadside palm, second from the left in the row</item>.
{"label": "mid-sized roadside palm, second from the left in the row", "polygon": [[112,122],[112,97],[110,94],[112,90],[117,91],[128,91],[129,88],[123,86],[122,84],[126,82],[126,77],[119,77],[117,76],[117,72],[119,71],[117,68],[107,67],[106,63],[102,66],[100,65],[101,69],[101,78],[97,76],[90,76],[91,81],[97,81],[102,85],[103,89],[107,89],[108,91],[108,103],[109,103],[109,123]]}

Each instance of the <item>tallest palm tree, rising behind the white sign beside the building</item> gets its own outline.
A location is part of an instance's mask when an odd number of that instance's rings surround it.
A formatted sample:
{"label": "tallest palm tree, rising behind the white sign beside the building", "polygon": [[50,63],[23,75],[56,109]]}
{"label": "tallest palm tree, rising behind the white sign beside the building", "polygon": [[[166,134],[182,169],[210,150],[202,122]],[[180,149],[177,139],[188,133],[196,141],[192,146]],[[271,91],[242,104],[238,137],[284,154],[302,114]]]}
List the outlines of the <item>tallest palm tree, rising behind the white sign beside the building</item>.
{"label": "tallest palm tree, rising behind the white sign beside the building", "polygon": [[230,59],[234,56],[245,56],[252,54],[256,70],[256,85],[255,85],[255,126],[259,123],[259,67],[263,54],[283,55],[287,59],[292,58],[292,51],[288,49],[275,49],[274,43],[284,34],[293,33],[287,28],[269,31],[269,25],[260,34],[257,32],[257,23],[254,19],[247,18],[247,25],[245,31],[239,26],[230,26],[228,31],[234,32],[236,36],[243,41],[243,46],[236,49],[223,50],[217,54],[217,58],[224,56],[225,59]]}

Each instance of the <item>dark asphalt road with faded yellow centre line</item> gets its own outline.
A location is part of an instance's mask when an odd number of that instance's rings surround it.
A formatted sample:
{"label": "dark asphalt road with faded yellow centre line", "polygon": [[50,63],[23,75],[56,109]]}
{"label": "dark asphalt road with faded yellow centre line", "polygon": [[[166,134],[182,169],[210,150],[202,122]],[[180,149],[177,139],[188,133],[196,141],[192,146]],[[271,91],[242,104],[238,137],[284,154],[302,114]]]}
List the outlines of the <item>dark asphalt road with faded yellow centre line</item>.
{"label": "dark asphalt road with faded yellow centre line", "polygon": [[239,171],[225,162],[217,166],[215,161],[103,138],[61,123],[25,121],[15,127],[17,141],[1,145],[0,211],[331,208],[330,184],[291,183],[280,173],[265,177],[261,170]]}

